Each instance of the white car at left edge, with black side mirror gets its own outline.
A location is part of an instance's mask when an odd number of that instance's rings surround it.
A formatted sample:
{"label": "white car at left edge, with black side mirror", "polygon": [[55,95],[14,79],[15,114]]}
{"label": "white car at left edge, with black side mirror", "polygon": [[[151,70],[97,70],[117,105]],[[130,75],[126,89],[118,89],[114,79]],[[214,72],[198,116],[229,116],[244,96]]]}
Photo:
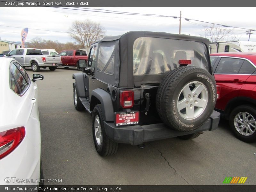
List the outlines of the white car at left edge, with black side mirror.
{"label": "white car at left edge, with black side mirror", "polygon": [[38,185],[41,133],[36,80],[14,59],[0,58],[0,185]]}

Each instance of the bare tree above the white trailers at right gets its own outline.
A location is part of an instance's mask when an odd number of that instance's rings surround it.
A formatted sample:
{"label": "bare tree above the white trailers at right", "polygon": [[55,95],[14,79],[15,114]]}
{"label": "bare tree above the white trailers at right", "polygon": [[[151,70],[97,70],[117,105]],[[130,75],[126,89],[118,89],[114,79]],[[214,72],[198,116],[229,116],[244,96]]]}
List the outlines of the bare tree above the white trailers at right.
{"label": "bare tree above the white trailers at right", "polygon": [[238,40],[237,36],[234,35],[234,28],[223,28],[221,26],[215,26],[214,24],[211,27],[204,26],[204,36],[209,39],[211,42],[216,41],[228,41],[228,38],[231,38],[232,41]]}

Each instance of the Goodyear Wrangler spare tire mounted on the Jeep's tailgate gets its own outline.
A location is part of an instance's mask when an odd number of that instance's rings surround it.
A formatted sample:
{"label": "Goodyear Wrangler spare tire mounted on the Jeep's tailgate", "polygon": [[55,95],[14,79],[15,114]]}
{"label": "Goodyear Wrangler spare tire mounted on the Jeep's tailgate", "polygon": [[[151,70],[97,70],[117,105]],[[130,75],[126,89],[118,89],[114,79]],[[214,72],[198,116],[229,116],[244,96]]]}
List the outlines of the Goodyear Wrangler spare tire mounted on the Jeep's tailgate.
{"label": "Goodyear Wrangler spare tire mounted on the Jeep's tailgate", "polygon": [[194,66],[171,71],[156,94],[158,115],[167,126],[183,132],[202,126],[211,116],[215,102],[214,77]]}

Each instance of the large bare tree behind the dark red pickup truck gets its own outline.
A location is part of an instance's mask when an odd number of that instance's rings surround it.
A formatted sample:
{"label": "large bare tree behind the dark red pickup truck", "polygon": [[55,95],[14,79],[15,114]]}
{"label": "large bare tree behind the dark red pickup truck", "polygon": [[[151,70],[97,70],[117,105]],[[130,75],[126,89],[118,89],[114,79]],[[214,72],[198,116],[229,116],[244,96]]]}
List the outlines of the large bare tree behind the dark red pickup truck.
{"label": "large bare tree behind the dark red pickup truck", "polygon": [[69,36],[82,47],[90,47],[91,44],[105,35],[105,29],[100,23],[91,20],[74,21],[69,28]]}

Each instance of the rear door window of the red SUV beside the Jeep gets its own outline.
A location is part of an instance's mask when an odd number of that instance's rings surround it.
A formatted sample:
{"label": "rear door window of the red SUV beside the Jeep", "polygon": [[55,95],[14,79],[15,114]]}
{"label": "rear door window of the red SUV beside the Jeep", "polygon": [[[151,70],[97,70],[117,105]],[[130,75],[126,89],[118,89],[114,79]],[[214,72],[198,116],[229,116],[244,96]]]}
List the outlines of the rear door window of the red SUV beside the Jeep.
{"label": "rear door window of the red SUV beside the Jeep", "polygon": [[215,74],[238,74],[243,62],[242,59],[223,57],[220,59]]}

